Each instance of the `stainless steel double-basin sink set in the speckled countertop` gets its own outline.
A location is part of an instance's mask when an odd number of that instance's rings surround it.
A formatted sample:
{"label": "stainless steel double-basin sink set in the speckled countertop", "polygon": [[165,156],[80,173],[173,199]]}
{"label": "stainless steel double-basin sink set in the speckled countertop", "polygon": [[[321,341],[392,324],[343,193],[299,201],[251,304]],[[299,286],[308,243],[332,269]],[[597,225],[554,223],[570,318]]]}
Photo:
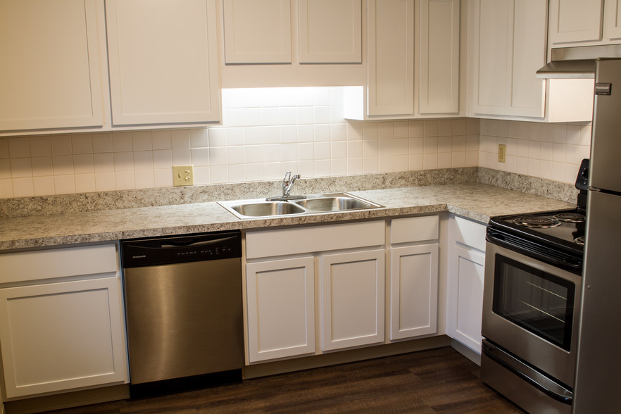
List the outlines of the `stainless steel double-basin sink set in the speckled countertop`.
{"label": "stainless steel double-basin sink set in the speckled countertop", "polygon": [[283,215],[366,210],[384,207],[348,193],[322,194],[308,196],[306,199],[282,201],[266,201],[265,199],[218,201],[218,204],[239,218],[271,218]]}

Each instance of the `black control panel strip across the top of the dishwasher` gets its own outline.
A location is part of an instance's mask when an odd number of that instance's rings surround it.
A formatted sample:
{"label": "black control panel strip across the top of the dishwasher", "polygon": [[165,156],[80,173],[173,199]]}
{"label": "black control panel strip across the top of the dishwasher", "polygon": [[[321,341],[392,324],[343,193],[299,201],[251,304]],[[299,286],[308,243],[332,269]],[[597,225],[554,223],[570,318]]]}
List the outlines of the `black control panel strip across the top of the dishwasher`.
{"label": "black control panel strip across the top of the dishwasher", "polygon": [[241,232],[121,241],[123,268],[242,257]]}

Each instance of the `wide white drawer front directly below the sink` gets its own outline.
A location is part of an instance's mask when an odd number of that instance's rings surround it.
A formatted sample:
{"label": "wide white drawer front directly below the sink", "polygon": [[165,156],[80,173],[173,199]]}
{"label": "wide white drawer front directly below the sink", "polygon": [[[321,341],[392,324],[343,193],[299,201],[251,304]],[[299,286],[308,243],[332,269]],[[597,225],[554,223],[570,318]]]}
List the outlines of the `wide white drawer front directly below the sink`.
{"label": "wide white drawer front directly below the sink", "polygon": [[384,244],[384,221],[261,230],[246,234],[246,258],[284,256]]}

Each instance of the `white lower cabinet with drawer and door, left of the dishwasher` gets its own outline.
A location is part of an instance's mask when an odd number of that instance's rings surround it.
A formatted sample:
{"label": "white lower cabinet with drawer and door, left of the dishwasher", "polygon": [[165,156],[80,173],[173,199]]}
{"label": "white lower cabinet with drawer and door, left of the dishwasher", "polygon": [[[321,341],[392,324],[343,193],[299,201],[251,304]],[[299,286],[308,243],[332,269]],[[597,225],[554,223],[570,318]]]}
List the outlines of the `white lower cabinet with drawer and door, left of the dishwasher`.
{"label": "white lower cabinet with drawer and door, left of the dishwasher", "polygon": [[0,268],[6,398],[127,382],[116,244],[6,253]]}

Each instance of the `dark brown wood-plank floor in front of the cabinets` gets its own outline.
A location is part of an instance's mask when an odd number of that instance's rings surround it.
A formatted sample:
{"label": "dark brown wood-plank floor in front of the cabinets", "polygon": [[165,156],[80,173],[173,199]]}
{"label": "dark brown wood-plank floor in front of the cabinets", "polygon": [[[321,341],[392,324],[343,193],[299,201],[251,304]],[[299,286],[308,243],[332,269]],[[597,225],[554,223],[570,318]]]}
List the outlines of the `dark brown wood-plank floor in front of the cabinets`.
{"label": "dark brown wood-plank floor in front of the cabinets", "polygon": [[196,391],[54,411],[98,413],[523,413],[450,347]]}

